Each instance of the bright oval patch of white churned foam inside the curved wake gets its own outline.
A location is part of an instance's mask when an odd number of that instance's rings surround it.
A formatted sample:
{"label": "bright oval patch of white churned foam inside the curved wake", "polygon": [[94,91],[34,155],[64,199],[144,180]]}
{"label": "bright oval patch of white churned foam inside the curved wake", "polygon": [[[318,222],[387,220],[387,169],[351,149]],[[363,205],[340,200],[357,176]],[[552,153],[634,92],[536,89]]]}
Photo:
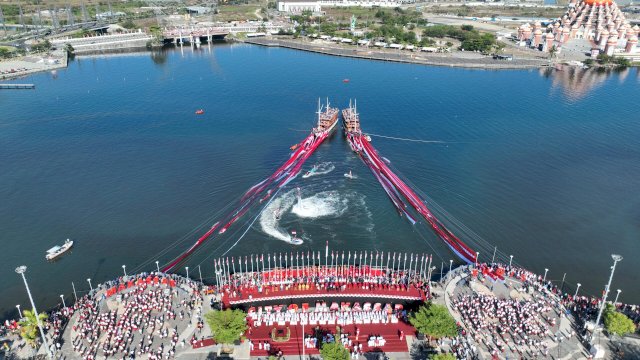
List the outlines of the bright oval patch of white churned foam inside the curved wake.
{"label": "bright oval patch of white churned foam inside the curved wake", "polygon": [[296,201],[291,212],[301,218],[319,218],[340,216],[348,208],[349,200],[341,197],[338,191],[323,191],[311,197]]}

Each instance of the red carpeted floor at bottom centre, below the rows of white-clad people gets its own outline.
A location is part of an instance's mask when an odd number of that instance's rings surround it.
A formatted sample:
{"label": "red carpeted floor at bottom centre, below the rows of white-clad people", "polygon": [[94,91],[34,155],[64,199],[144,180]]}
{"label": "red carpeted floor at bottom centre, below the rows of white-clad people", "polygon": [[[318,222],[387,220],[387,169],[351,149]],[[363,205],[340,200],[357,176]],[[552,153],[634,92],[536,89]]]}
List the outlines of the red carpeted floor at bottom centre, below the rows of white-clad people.
{"label": "red carpeted floor at bottom centre, below the rows of white-clad people", "polygon": [[[249,332],[246,333],[247,338],[251,339],[254,344],[253,351],[251,351],[251,356],[266,356],[267,351],[262,349],[260,350],[258,347],[258,342],[269,342],[271,343],[271,353],[277,353],[278,351],[282,351],[284,355],[300,355],[302,354],[302,347],[304,346],[304,336],[302,335],[302,326],[290,326],[289,329],[291,331],[291,338],[286,342],[274,342],[271,340],[271,330],[273,328],[282,329],[286,332],[286,326],[260,326],[258,328],[253,328],[251,330],[251,334]],[[360,329],[360,337],[359,341],[355,338],[356,327]],[[335,335],[336,326],[335,325],[319,325],[319,328],[322,331],[329,331]],[[305,333],[311,335],[314,333],[315,326],[305,326]],[[415,333],[415,329],[403,322],[398,322],[397,324],[361,324],[361,325],[345,325],[342,327],[342,332],[349,334],[349,339],[352,340],[352,344],[356,345],[362,343],[362,351],[369,352],[372,350],[376,351],[384,351],[384,352],[408,352],[409,349],[407,347],[406,339],[400,340],[399,332],[400,330],[404,331],[406,335],[413,335]],[[369,348],[367,346],[367,340],[370,335],[383,336],[386,340],[384,347],[374,347]],[[352,347],[353,348],[353,347]],[[350,351],[352,350],[349,349]],[[305,348],[305,354],[319,354],[320,351],[318,349],[310,349]]]}

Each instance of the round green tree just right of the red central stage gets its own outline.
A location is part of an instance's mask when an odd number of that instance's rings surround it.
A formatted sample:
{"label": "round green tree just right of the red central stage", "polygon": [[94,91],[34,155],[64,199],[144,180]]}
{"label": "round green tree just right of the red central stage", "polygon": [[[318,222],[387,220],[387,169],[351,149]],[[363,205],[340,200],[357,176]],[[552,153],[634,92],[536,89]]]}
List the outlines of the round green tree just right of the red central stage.
{"label": "round green tree just right of the red central stage", "polygon": [[409,322],[418,331],[431,338],[456,336],[458,333],[456,321],[449,314],[449,310],[443,305],[431,302],[413,314]]}

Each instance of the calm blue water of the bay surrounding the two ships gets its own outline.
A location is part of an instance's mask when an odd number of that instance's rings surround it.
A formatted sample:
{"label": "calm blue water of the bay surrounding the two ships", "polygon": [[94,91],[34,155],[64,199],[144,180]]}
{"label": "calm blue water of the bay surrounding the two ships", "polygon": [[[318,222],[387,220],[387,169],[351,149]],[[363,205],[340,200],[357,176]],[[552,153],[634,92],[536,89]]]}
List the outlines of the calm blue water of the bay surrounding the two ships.
{"label": "calm blue water of the bay surrounding the two ships", "polygon": [[[344,84],[342,79],[351,82]],[[640,302],[640,125],[638,72],[477,71],[368,62],[284,49],[222,45],[80,58],[35,91],[0,93],[0,309],[27,297],[17,265],[41,307],[129,272],[170,260],[252,184],[271,174],[314,121],[317,97],[346,107],[358,99],[363,127],[392,165],[484,241],[462,236],[548,277],[606,283],[612,252],[625,256],[614,289]],[[203,108],[203,116],[195,109]],[[276,231],[297,230],[297,248],[257,219],[230,254],[332,249],[452,254],[424,225],[399,218],[368,169],[337,133],[313,163],[335,170],[296,179],[278,201]],[[352,170],[358,178],[347,181]],[[432,204],[433,205],[433,204]],[[442,214],[442,211],[437,211]],[[251,221],[257,210],[244,218]],[[267,219],[268,220],[268,219]],[[264,223],[264,224],[262,224]],[[238,224],[241,225],[241,224]],[[264,228],[263,228],[264,225]],[[270,227],[271,226],[271,227]],[[235,226],[187,265],[210,261],[245,230]],[[273,234],[273,232],[272,232]],[[277,234],[275,235],[277,236]],[[44,261],[70,237],[73,253]],[[157,255],[167,246],[177,247]],[[487,245],[491,244],[491,245]],[[441,260],[440,260],[441,259]],[[582,290],[581,290],[582,292]],[[0,313],[1,314],[1,313]]]}

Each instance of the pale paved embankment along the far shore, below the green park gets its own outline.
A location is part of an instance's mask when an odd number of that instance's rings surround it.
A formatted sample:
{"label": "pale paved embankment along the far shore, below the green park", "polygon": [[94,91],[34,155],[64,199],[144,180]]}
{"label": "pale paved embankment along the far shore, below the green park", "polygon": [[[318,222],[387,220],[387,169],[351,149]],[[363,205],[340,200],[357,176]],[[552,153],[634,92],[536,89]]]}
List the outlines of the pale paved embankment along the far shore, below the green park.
{"label": "pale paved embankment along the far shore, below the green park", "polygon": [[[518,60],[495,60],[491,57],[453,57],[440,54],[426,55],[423,52],[399,52],[384,51],[371,48],[354,47],[353,49],[336,47],[335,44],[314,44],[311,42],[296,41],[291,39],[268,39],[254,38],[245,39],[242,42],[251,45],[265,47],[282,47],[293,50],[307,51],[324,55],[348,57],[364,60],[376,60],[387,62],[398,62],[406,64],[417,64],[427,66],[457,67],[469,69],[486,70],[519,70],[519,69],[539,69],[549,67],[551,63],[547,60],[518,59]],[[468,53],[473,55],[473,53]]]}

